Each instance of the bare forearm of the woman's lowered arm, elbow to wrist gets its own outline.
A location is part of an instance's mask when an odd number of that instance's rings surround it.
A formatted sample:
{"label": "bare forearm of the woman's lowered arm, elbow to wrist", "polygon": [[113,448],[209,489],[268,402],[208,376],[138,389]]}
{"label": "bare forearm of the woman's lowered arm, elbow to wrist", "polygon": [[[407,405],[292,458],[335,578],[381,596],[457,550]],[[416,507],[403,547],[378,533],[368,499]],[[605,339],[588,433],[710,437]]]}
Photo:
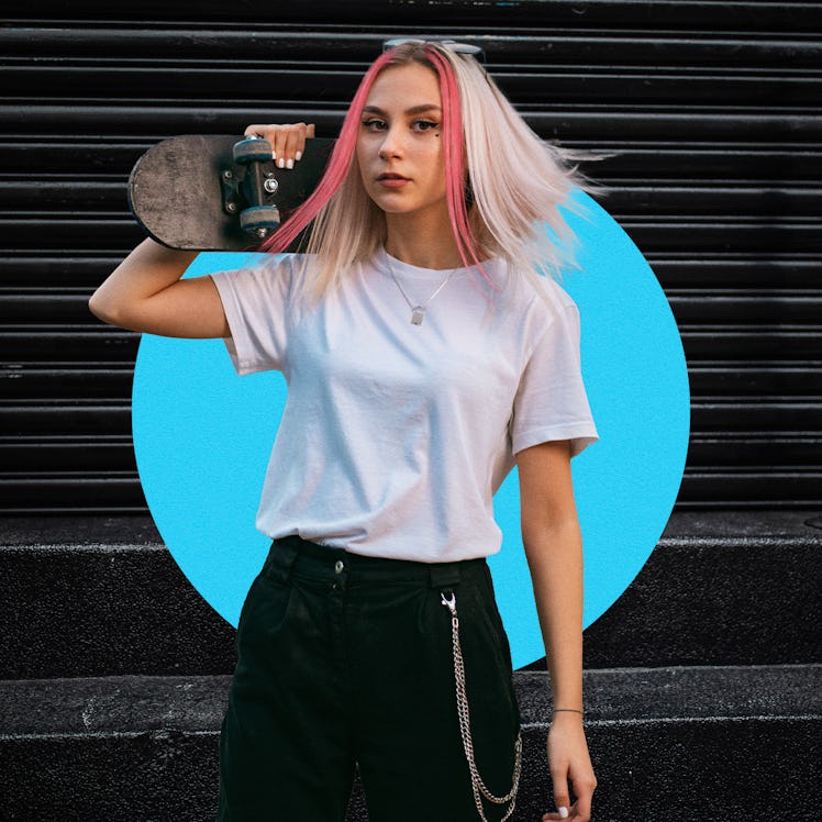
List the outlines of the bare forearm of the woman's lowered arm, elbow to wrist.
{"label": "bare forearm of the woman's lowered arm, elbow to wrist", "polygon": [[576,516],[523,533],[554,707],[582,709],[582,541]]}

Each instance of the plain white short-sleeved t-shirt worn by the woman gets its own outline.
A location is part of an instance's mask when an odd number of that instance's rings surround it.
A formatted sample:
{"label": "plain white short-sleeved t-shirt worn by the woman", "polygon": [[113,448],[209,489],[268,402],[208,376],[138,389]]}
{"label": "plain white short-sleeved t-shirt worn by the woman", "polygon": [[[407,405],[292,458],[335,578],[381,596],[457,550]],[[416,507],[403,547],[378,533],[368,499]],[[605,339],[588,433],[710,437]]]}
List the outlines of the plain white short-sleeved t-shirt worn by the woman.
{"label": "plain white short-sleeved t-shirt worn by the woman", "polygon": [[[280,370],[288,398],[257,527],[355,554],[449,562],[499,551],[492,497],[514,454],[597,438],[579,362],[579,314],[507,264],[447,273],[381,252],[314,306],[292,298],[300,258],[212,275],[238,374]],[[273,421],[274,423],[274,421]]]}

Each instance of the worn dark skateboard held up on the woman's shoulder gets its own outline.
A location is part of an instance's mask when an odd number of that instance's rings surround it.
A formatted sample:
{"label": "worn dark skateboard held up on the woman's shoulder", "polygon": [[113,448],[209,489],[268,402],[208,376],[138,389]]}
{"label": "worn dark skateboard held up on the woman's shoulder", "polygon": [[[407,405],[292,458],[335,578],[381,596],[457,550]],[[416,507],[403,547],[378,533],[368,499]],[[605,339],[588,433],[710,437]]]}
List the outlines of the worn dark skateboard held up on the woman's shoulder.
{"label": "worn dark skateboard held up on the woman's shoulder", "polygon": [[277,168],[257,137],[190,134],[149,148],[129,178],[129,207],[170,248],[251,251],[314,190],[333,140],[306,141],[293,169]]}

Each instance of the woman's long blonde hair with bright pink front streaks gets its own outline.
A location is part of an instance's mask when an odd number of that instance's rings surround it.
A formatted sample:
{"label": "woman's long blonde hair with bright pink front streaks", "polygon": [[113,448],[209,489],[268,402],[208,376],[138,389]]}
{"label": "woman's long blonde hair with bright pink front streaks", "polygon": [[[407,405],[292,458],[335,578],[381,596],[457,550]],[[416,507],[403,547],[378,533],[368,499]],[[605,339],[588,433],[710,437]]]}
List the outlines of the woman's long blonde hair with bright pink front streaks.
{"label": "woman's long blonde hair with bright pink front streaks", "polygon": [[499,257],[529,279],[558,275],[571,262],[571,232],[559,207],[575,186],[585,185],[574,165],[582,155],[541,140],[474,57],[438,42],[404,43],[371,65],[320,186],[264,251],[285,251],[313,220],[300,248],[311,255],[301,286],[316,298],[381,248],[386,219],[366,193],[356,140],[376,78],[410,64],[426,66],[440,79],[448,209],[464,265],[485,274],[481,260]]}

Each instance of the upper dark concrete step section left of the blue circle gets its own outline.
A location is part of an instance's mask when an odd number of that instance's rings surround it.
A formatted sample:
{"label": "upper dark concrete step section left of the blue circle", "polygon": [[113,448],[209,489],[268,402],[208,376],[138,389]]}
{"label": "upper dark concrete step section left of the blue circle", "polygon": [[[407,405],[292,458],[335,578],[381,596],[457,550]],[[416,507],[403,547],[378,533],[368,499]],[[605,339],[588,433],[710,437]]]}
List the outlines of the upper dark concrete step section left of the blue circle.
{"label": "upper dark concrete step section left of the blue circle", "polygon": [[145,516],[0,520],[0,678],[230,674],[234,629]]}

